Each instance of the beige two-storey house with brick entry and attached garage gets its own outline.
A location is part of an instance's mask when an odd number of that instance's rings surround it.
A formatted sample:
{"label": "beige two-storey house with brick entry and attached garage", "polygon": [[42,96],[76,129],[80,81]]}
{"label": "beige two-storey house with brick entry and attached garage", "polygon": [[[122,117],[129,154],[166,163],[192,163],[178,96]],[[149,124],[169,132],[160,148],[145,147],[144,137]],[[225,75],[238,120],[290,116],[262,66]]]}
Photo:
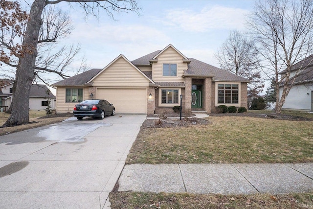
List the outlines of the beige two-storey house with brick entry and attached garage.
{"label": "beige two-storey house with brick entry and attached garage", "polygon": [[103,98],[116,113],[153,114],[173,111],[211,113],[219,105],[246,107],[249,80],[187,58],[172,45],[134,61],[116,57],[104,69],[92,69],[53,86],[57,112],[71,112],[85,99]]}

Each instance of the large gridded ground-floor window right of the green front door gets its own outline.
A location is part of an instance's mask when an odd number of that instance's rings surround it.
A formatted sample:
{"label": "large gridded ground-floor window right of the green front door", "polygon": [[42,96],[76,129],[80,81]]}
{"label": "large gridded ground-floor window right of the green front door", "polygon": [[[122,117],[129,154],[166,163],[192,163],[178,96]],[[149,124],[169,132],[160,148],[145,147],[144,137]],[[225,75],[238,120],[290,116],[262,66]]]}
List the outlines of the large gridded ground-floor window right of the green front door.
{"label": "large gridded ground-floor window right of the green front door", "polygon": [[218,104],[238,104],[238,84],[218,84]]}

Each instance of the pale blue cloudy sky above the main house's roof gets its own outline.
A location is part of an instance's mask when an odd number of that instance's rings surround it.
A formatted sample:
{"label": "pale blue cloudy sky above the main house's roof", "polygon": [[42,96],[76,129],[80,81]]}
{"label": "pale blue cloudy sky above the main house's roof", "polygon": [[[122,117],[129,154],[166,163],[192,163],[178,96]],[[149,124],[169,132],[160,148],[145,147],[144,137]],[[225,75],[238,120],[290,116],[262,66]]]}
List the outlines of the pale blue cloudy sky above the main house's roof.
{"label": "pale blue cloudy sky above the main house's roof", "polygon": [[[229,31],[245,30],[245,19],[253,0],[137,0],[136,13],[106,13],[99,20],[68,3],[58,6],[68,11],[74,26],[67,44],[81,45],[90,68],[104,68],[118,55],[129,60],[163,49],[169,44],[181,53],[219,67],[213,54]],[[101,12],[101,10],[100,10]],[[78,63],[77,63],[78,64]],[[75,68],[75,65],[73,66]]]}

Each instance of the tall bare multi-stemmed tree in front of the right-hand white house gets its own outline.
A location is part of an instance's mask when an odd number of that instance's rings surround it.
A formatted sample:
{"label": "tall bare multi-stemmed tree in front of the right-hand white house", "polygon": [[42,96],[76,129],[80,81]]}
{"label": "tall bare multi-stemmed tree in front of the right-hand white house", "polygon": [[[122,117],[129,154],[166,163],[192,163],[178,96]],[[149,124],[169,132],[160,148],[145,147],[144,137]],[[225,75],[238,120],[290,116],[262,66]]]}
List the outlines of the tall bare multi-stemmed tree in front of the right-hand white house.
{"label": "tall bare multi-stemmed tree in front of the right-hand white house", "polygon": [[292,66],[313,51],[313,1],[258,0],[247,26],[264,58],[264,72],[274,77],[275,112],[281,113],[294,80],[308,67]]}

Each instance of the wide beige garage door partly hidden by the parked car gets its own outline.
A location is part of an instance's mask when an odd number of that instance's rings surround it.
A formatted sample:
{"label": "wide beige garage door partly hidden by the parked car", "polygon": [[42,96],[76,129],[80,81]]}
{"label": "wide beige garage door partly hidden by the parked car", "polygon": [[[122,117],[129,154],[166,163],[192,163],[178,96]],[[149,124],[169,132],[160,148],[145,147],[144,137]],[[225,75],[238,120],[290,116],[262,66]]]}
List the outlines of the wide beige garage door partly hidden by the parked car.
{"label": "wide beige garage door partly hidden by the parked car", "polygon": [[147,112],[146,89],[97,89],[97,98],[112,103],[116,113]]}

